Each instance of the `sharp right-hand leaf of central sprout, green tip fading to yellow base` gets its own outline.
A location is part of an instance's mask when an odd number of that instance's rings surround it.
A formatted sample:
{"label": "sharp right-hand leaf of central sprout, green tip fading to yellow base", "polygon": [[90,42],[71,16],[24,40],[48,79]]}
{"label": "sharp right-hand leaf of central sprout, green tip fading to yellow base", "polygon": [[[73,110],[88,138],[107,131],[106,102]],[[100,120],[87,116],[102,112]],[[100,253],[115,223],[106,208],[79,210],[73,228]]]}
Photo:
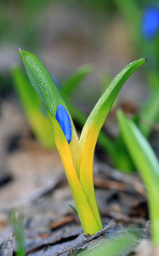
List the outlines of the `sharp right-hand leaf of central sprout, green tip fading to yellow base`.
{"label": "sharp right-hand leaf of central sprout, green tip fading to yellow base", "polygon": [[121,90],[122,85],[138,67],[145,63],[145,61],[145,59],[133,61],[116,75],[116,78],[112,80],[111,84],[105,90],[105,93],[99,98],[99,101],[90,113],[86,124],[82,129],[78,147],[77,174],[82,183],[84,192],[87,195],[89,205],[94,212],[94,216],[99,222],[99,212],[94,195],[94,148],[97,143],[99,131],[104,124],[106,116],[109,113],[117,94]]}

